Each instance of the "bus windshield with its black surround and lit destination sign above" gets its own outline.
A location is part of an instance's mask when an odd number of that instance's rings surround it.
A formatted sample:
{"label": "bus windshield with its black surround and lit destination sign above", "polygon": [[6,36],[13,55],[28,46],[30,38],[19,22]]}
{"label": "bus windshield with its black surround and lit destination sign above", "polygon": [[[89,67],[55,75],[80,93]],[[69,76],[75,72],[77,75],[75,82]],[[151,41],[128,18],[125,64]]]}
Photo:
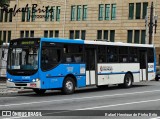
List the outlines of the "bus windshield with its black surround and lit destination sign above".
{"label": "bus windshield with its black surround and lit destination sign above", "polygon": [[25,71],[37,71],[38,51],[39,44],[35,44],[35,41],[12,41],[8,51],[7,70],[11,74],[17,73],[14,71],[23,71],[24,74]]}

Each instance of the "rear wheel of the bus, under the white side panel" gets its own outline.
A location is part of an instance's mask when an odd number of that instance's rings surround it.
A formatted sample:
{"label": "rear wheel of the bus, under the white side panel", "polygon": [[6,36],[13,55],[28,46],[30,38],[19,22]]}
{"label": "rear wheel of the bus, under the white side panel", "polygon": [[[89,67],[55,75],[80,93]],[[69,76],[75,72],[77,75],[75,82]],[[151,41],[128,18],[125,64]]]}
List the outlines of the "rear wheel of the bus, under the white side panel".
{"label": "rear wheel of the bus, under the white side panel", "polygon": [[123,83],[123,87],[124,88],[130,88],[132,86],[132,82],[133,82],[133,77],[131,74],[127,73],[124,77],[124,83]]}

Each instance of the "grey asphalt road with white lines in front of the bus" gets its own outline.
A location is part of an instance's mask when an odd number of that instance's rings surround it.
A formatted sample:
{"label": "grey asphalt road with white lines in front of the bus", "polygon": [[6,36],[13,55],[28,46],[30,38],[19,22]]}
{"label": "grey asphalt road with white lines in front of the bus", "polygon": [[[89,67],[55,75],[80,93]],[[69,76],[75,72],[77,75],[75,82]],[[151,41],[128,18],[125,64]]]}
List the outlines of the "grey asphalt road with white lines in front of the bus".
{"label": "grey asphalt road with white lines in front of the bus", "polygon": [[129,89],[88,87],[72,95],[60,91],[48,91],[43,96],[32,92],[14,94],[0,97],[0,110],[41,112],[37,114],[42,117],[24,117],[31,119],[160,119],[160,81],[135,83]]}

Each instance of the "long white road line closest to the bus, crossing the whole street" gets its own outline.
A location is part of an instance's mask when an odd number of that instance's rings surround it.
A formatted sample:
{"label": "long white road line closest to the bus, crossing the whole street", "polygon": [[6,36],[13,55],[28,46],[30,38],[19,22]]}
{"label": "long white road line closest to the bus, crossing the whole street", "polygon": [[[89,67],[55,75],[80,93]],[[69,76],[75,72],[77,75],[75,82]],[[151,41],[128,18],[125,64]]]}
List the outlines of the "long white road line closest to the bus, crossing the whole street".
{"label": "long white road line closest to the bus, crossing the whole street", "polygon": [[113,94],[113,95],[91,96],[91,97],[82,97],[82,98],[71,98],[71,99],[62,99],[62,100],[48,100],[48,101],[46,100],[46,101],[39,101],[39,102],[15,103],[15,104],[8,104],[8,105],[7,104],[6,105],[0,105],[0,107],[32,105],[32,104],[49,103],[49,102],[64,102],[64,101],[74,101],[74,100],[82,100],[82,99],[95,99],[95,98],[124,96],[124,95],[135,95],[135,94],[143,94],[143,93],[151,93],[151,92],[160,92],[160,90],[143,91],[143,92],[132,92],[132,93],[122,93],[122,94]]}

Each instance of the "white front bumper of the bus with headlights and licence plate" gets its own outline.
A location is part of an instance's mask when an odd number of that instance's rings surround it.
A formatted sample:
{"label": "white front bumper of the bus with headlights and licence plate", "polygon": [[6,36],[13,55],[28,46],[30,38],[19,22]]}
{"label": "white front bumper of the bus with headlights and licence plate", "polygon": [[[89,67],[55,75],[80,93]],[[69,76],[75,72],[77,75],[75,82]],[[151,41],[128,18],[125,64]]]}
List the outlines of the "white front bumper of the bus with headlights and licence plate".
{"label": "white front bumper of the bus with headlights and licence plate", "polygon": [[18,83],[7,81],[7,88],[40,88],[40,81],[30,83]]}

